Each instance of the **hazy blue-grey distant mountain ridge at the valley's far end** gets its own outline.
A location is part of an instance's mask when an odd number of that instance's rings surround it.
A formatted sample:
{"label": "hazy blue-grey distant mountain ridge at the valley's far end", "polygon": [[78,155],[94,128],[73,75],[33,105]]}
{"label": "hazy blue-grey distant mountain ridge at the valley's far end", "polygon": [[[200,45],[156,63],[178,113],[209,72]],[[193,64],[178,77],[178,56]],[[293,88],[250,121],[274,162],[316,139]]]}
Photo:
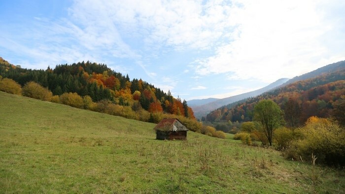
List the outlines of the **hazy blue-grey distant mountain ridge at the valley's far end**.
{"label": "hazy blue-grey distant mountain ridge at the valley's far end", "polygon": [[[236,95],[233,97],[226,97],[226,98],[222,98],[222,99],[217,99],[214,101],[211,101],[209,103],[203,104],[203,105],[194,105],[194,104],[190,104],[188,103],[188,105],[190,107],[192,107],[193,111],[194,111],[194,115],[196,118],[201,119],[202,117],[205,117],[210,111],[219,108],[221,106],[224,106],[226,104],[230,104],[248,97],[255,97],[258,96],[264,92],[267,92],[269,90],[272,90],[280,85],[282,85],[283,83],[285,83],[286,81],[288,81],[288,78],[281,78],[278,79],[277,81],[273,82],[272,84],[261,88],[259,90],[255,90],[252,92],[247,92],[241,95]],[[208,98],[209,99],[209,98]],[[190,100],[192,101],[192,100]]]}

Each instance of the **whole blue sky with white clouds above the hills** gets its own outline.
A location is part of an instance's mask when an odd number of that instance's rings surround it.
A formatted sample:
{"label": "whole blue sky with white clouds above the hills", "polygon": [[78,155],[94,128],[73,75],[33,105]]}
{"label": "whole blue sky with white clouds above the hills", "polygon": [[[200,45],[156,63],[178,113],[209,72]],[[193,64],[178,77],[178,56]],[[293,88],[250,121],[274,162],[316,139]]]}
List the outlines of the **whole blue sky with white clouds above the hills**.
{"label": "whole blue sky with white clouds above the hills", "polygon": [[0,57],[90,61],[182,99],[250,92],[345,60],[345,0],[0,0]]}

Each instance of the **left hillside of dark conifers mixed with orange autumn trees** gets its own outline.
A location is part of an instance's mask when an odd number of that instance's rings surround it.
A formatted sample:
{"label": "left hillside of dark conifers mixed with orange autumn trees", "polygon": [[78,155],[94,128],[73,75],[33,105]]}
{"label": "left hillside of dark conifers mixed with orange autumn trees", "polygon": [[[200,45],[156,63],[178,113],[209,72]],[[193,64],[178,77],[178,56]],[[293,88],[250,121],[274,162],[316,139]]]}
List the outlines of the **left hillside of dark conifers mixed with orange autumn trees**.
{"label": "left hillside of dark conifers mixed with orange autumn trees", "polygon": [[185,100],[174,98],[141,79],[111,70],[104,64],[79,62],[56,65],[55,68],[33,70],[9,64],[0,59],[0,75],[21,86],[35,82],[48,88],[54,96],[76,93],[89,96],[93,102],[106,102],[131,107],[133,111],[144,109],[150,113],[165,112],[194,119],[194,113]]}

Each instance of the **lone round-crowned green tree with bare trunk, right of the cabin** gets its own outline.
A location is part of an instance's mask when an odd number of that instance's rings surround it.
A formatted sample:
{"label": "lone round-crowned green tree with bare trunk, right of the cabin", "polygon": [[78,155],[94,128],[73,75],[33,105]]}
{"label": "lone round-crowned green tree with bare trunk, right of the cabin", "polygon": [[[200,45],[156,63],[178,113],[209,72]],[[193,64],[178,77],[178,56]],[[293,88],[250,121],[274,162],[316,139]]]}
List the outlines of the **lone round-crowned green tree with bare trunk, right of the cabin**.
{"label": "lone round-crowned green tree with bare trunk, right of the cabin", "polygon": [[283,111],[276,102],[264,99],[254,106],[254,121],[259,124],[259,131],[264,133],[272,146],[273,132],[283,124]]}

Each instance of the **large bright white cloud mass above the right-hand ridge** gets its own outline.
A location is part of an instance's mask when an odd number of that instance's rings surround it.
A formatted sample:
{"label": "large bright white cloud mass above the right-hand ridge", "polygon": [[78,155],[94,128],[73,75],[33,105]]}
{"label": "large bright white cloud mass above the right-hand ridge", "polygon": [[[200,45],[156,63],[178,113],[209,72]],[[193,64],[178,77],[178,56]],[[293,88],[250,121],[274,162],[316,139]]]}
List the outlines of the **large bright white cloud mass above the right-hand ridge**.
{"label": "large bright white cloud mass above the right-hand ridge", "polygon": [[197,74],[230,72],[230,79],[272,82],[344,59],[341,51],[323,57],[331,48],[321,39],[335,26],[324,20],[316,1],[241,2],[243,8],[234,7],[229,18],[238,26],[233,41],[217,47],[214,56],[195,61]]}

